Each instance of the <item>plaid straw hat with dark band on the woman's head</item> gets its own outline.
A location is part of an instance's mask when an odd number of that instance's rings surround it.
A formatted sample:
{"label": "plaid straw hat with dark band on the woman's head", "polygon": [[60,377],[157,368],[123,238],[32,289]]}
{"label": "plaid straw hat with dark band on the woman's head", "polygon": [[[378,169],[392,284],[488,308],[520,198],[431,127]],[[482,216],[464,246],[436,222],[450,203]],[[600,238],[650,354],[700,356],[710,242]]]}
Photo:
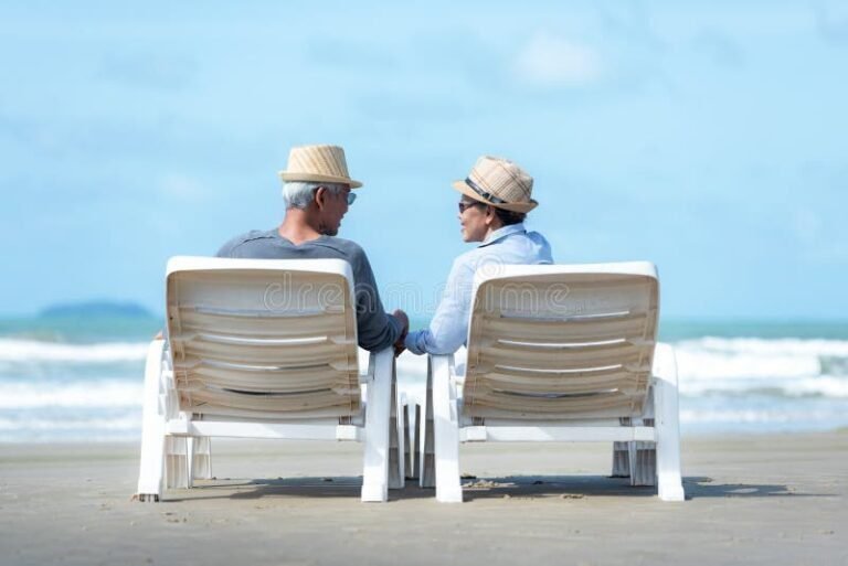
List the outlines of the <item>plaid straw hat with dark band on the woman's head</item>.
{"label": "plaid straw hat with dark band on the woman's head", "polygon": [[539,204],[530,197],[533,178],[508,159],[483,156],[465,181],[454,181],[454,189],[496,209],[530,212]]}

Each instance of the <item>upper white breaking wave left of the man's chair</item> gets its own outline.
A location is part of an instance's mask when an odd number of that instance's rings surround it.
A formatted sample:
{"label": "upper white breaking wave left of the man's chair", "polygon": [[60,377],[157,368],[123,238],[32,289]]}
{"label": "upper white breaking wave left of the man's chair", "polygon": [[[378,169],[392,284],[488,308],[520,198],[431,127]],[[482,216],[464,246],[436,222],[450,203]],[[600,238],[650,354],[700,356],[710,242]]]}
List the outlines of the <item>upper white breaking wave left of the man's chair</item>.
{"label": "upper white breaking wave left of the man's chair", "polygon": [[141,361],[147,342],[60,344],[35,340],[0,339],[2,362],[107,363]]}

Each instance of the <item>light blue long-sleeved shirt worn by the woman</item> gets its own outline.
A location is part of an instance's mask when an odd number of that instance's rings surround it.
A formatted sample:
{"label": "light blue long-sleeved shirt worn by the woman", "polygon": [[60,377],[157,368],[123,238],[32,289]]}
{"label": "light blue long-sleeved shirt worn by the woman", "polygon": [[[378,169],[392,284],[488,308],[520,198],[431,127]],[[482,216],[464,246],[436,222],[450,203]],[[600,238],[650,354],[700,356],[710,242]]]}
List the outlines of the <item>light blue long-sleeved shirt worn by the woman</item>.
{"label": "light blue long-sleeved shirt worn by the woman", "polygon": [[552,263],[551,246],[538,232],[527,232],[521,223],[496,229],[479,246],[454,260],[430,328],[410,332],[406,350],[413,354],[452,354],[465,343],[474,274],[478,269]]}

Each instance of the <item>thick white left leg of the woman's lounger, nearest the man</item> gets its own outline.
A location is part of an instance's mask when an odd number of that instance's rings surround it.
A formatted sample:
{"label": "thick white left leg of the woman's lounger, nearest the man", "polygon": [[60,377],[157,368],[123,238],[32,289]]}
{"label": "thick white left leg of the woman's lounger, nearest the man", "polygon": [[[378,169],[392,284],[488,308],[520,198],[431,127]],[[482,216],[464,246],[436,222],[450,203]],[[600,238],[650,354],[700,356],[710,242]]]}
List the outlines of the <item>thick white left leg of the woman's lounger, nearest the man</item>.
{"label": "thick white left leg of the woman's lounger, nearest the man", "polygon": [[459,484],[459,421],[455,387],[451,384],[451,356],[431,355],[433,425],[436,451],[436,500],[462,503]]}

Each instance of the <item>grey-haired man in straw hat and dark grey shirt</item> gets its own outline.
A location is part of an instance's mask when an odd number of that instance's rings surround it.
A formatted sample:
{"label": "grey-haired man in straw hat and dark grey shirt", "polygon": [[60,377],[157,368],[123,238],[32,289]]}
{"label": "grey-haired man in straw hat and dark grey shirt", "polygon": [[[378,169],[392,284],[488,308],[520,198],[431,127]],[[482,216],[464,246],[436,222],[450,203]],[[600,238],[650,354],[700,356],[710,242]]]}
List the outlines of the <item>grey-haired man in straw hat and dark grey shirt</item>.
{"label": "grey-haired man in straw hat and dark grey shirt", "polygon": [[341,218],[362,186],[348,174],[344,150],[337,146],[293,148],[288,168],[279,172],[286,216],[269,231],[237,236],[221,248],[219,257],[257,259],[326,259],[348,261],[353,269],[359,345],[379,351],[391,345],[400,351],[409,330],[406,314],[383,311],[374,274],[364,250],[349,239],[336,237]]}

